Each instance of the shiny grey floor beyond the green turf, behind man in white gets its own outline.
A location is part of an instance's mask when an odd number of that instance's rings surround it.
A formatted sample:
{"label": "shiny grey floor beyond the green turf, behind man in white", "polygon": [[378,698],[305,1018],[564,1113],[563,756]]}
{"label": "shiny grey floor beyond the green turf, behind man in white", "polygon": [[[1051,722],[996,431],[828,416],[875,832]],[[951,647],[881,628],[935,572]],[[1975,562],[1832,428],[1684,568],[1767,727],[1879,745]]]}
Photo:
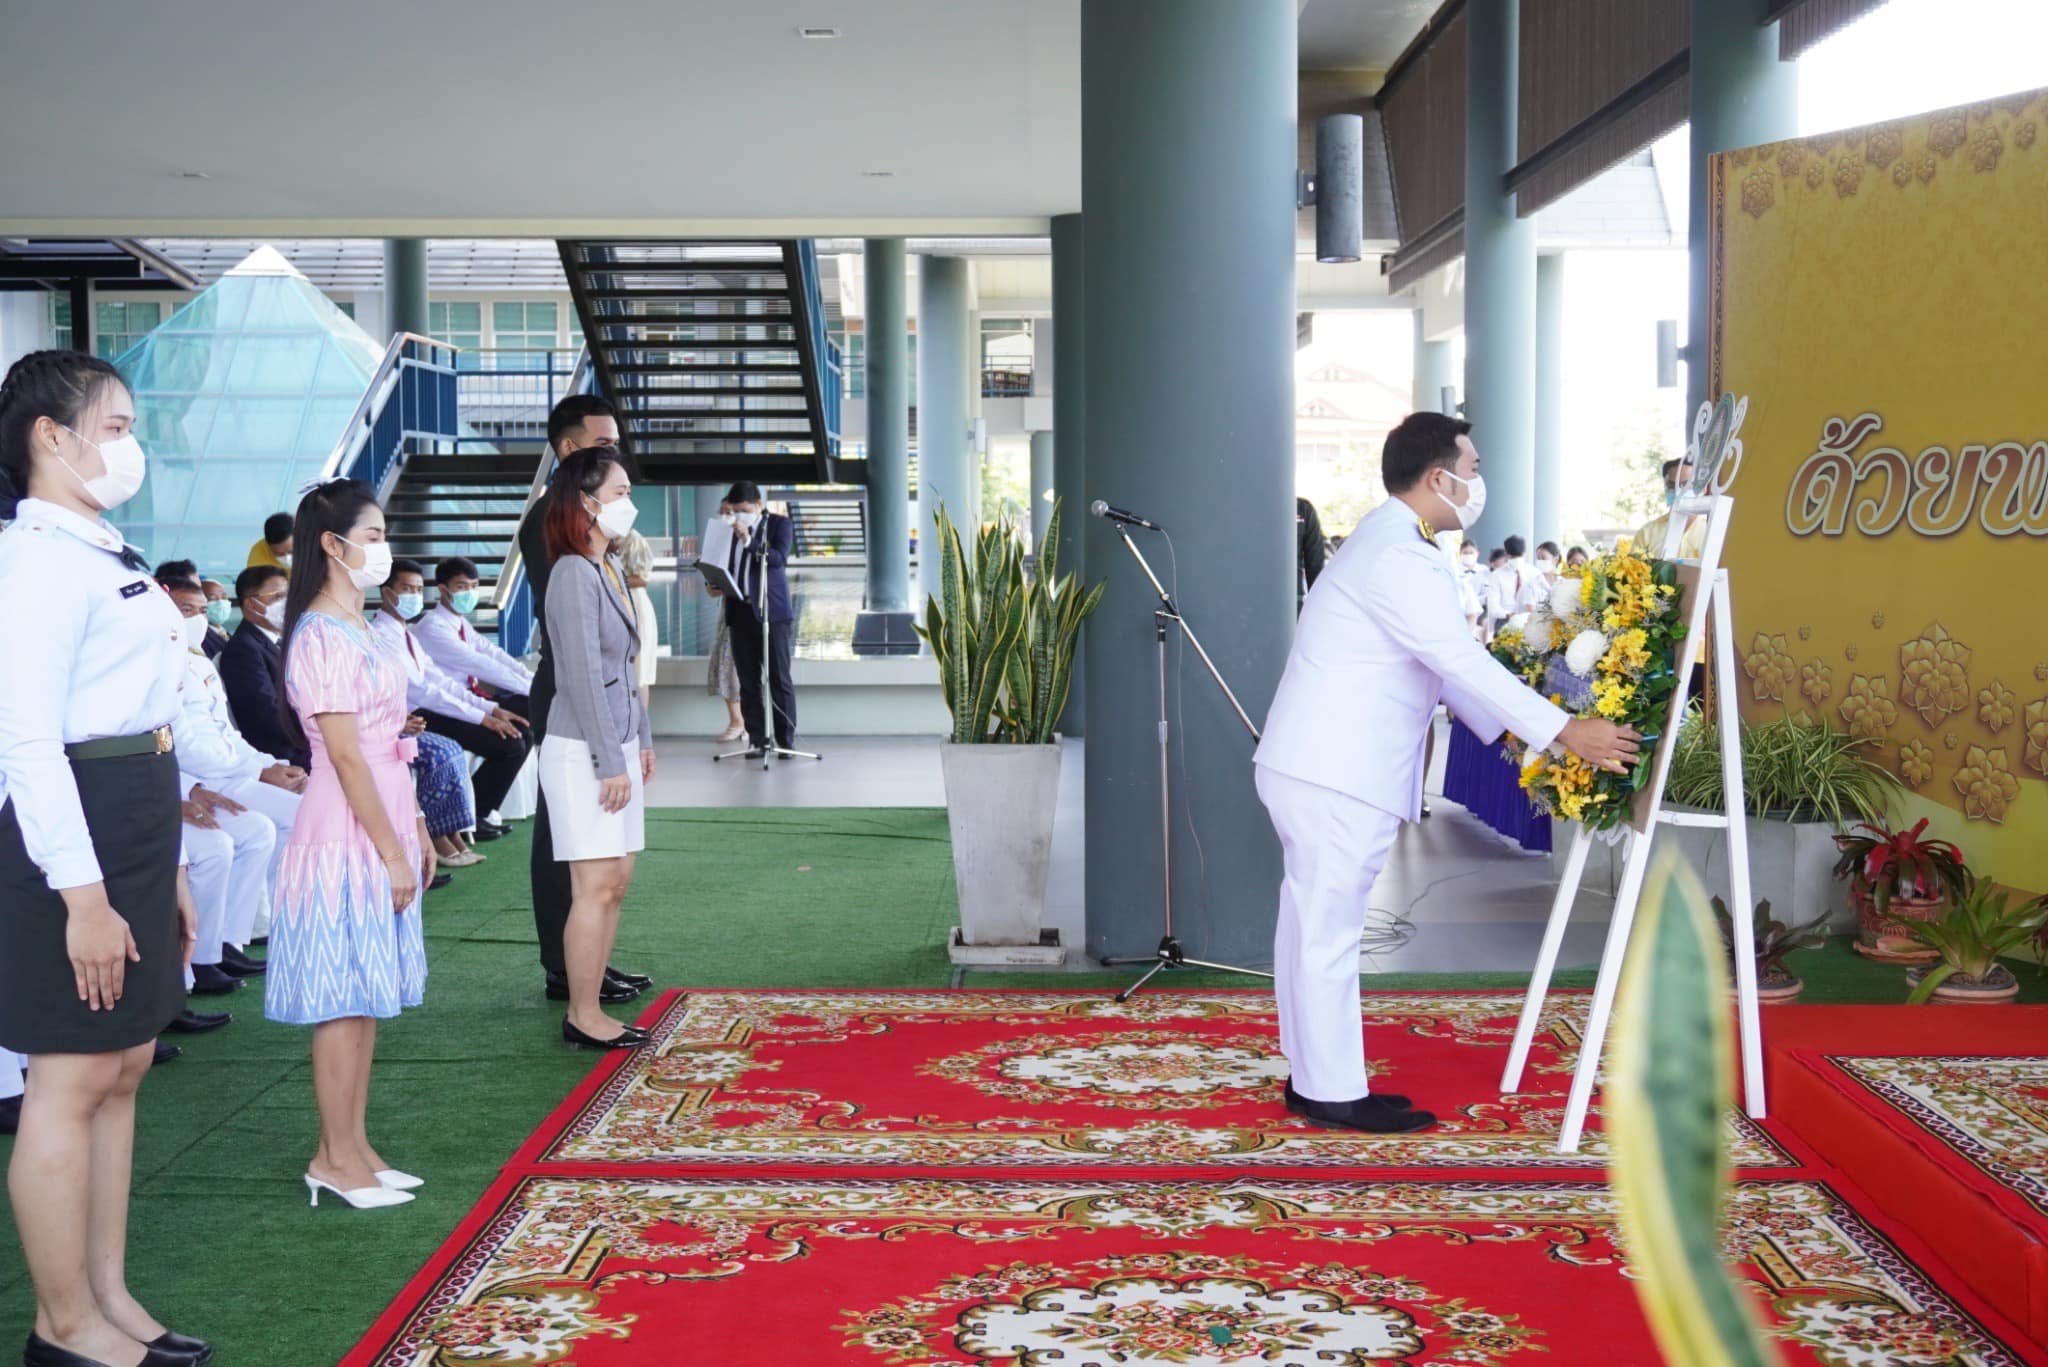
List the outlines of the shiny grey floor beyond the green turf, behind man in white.
{"label": "shiny grey floor beyond the green turf, behind man in white", "polygon": [[[805,738],[825,758],[776,760],[766,773],[741,760],[713,762],[723,746],[709,740],[662,740],[649,805],[662,807],[942,807],[944,781],[938,738]],[[1438,744],[1438,758],[1446,750]],[[1081,742],[1067,742],[1059,814],[1053,828],[1053,873],[1047,924],[1063,943],[1081,945]],[[1442,762],[1432,775],[1438,791]],[[1436,816],[1403,828],[1393,859],[1372,894],[1372,926],[1362,955],[1368,974],[1393,971],[1518,971],[1536,961],[1544,920],[1556,892],[1563,855],[1524,853],[1456,803],[1432,799]],[[1606,848],[1595,848],[1573,910],[1559,963],[1599,959],[1618,877]],[[1198,926],[1182,926],[1184,933]],[[1069,967],[1092,967],[1069,951]],[[1247,967],[1270,967],[1268,963]]]}

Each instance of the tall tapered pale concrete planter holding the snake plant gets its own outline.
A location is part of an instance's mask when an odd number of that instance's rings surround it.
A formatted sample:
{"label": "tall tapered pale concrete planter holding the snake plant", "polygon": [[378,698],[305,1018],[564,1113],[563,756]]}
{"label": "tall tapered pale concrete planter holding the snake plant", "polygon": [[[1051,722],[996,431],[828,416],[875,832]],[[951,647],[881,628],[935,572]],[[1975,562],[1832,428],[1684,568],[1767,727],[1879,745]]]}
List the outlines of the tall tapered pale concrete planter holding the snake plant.
{"label": "tall tapered pale concrete planter holding the snake plant", "polygon": [[1059,744],[940,746],[961,941],[1038,945],[1053,865]]}

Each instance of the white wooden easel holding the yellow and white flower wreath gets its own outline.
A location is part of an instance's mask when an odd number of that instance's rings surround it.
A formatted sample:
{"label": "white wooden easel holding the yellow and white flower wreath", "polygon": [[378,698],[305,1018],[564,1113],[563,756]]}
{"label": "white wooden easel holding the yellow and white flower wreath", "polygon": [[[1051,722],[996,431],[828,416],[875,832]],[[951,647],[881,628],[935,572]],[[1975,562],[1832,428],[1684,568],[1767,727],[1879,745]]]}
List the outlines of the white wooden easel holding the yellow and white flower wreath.
{"label": "white wooden easel holding the yellow and white flower wreath", "polygon": [[[1704,420],[1704,414],[1702,414]],[[1726,484],[1735,471],[1720,471],[1714,486]],[[1559,1131],[1561,1154],[1579,1150],[1579,1135],[1585,1131],[1585,1113],[1593,1105],[1593,1080],[1599,1074],[1602,1045],[1606,1043],[1608,1019],[1614,1014],[1614,992],[1620,986],[1622,961],[1628,957],[1628,930],[1636,918],[1636,902],[1642,898],[1642,879],[1651,867],[1651,842],[1659,826],[1712,826],[1729,832],[1729,920],[1735,928],[1735,994],[1741,1014],[1743,1037],[1743,1099],[1751,1117],[1763,1117],[1763,1025],[1757,1012],[1757,957],[1753,947],[1753,920],[1749,900],[1749,830],[1743,824],[1743,740],[1741,717],[1735,703],[1735,617],[1729,605],[1729,572],[1720,566],[1720,551],[1729,537],[1729,516],[1735,500],[1724,494],[1702,494],[1681,498],[1671,508],[1671,525],[1665,533],[1665,560],[1679,557],[1683,529],[1694,516],[1706,519],[1706,545],[1700,553],[1698,584],[1692,590],[1686,615],[1686,637],[1679,644],[1683,662],[1677,668],[1677,689],[1671,693],[1671,715],[1665,721],[1665,740],[1657,746],[1657,767],[1651,783],[1642,791],[1636,807],[1636,824],[1624,828],[1626,867],[1622,885],[1614,894],[1614,920],[1608,924],[1608,947],[1599,955],[1599,980],[1593,986],[1593,1010],[1585,1021],[1585,1037],[1579,1041],[1579,1066],[1571,1078],[1571,1099],[1565,1103],[1565,1127]],[[1712,617],[1708,617],[1712,607]],[[1671,752],[1677,748],[1677,728],[1686,715],[1686,699],[1692,691],[1692,672],[1698,668],[1700,631],[1712,621],[1714,633],[1714,719],[1720,728],[1720,812],[1667,812],[1665,781],[1671,777]],[[1565,859],[1565,877],[1550,904],[1550,924],[1542,933],[1542,949],[1536,951],[1536,974],[1530,978],[1528,998],[1522,1002],[1522,1021],[1516,1025],[1516,1041],[1507,1053],[1507,1068],[1501,1072],[1501,1092],[1522,1090],[1522,1070],[1528,1064],[1530,1043],[1536,1039],[1536,1023],[1542,1017],[1544,996],[1550,990],[1550,974],[1556,969],[1556,953],[1565,943],[1565,924],[1571,920],[1571,904],[1579,896],[1579,879],[1585,875],[1585,857],[1593,836],[1579,826],[1571,840],[1571,855]]]}

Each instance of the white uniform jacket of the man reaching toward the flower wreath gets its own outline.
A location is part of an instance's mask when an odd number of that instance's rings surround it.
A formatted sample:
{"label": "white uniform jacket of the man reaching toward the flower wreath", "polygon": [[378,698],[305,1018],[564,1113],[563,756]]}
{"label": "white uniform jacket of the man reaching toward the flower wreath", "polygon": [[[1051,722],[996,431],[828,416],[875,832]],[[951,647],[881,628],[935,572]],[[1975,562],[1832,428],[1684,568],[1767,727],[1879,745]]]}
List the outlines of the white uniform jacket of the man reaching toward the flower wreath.
{"label": "white uniform jacket of the man reaching toward the flower wreath", "polygon": [[1473,639],[1450,562],[1395,498],[1309,590],[1253,758],[1413,822],[1440,701],[1481,740],[1511,730],[1536,748],[1569,719]]}

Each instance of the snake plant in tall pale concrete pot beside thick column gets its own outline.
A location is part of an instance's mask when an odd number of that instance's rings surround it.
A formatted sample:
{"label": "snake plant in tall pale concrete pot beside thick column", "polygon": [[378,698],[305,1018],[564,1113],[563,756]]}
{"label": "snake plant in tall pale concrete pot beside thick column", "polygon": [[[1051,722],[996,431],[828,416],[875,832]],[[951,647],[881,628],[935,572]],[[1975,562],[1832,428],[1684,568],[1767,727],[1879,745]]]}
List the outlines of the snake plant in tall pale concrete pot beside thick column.
{"label": "snake plant in tall pale concrete pot beside thick column", "polygon": [[1053,506],[1036,572],[1004,516],[967,553],[944,508],[936,519],[940,590],[918,633],[938,660],[952,736],[940,752],[963,945],[1040,945],[1044,881],[1059,799],[1059,715],[1073,689],[1081,623],[1102,584],[1059,574]]}

